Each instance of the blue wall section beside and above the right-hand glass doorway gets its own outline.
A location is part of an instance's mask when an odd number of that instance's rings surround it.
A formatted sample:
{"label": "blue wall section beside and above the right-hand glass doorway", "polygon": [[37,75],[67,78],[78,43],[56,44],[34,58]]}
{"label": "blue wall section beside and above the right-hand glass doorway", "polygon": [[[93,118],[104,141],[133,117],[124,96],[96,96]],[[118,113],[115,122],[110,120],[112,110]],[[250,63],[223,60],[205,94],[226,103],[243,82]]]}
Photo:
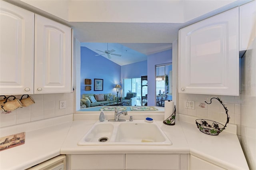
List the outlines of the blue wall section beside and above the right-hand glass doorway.
{"label": "blue wall section beside and above the right-hand glass doorway", "polygon": [[148,106],[156,103],[156,69],[159,64],[172,63],[172,49],[148,55]]}

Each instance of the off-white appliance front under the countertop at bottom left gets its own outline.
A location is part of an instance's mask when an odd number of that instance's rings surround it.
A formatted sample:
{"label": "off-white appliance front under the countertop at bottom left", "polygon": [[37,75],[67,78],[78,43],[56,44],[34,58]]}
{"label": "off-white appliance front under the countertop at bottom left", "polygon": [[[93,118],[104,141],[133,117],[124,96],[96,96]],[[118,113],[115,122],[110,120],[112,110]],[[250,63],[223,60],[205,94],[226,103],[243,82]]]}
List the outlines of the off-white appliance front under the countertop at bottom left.
{"label": "off-white appliance front under the countertop at bottom left", "polygon": [[66,155],[56,156],[27,170],[66,170]]}

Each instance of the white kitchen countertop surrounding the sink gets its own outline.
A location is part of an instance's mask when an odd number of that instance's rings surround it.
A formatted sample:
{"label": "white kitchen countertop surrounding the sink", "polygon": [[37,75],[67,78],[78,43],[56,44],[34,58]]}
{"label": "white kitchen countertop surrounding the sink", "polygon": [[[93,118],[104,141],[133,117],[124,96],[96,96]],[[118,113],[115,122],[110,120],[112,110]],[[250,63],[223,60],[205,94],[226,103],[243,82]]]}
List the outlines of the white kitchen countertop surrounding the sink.
{"label": "white kitchen countertop surrounding the sink", "polygon": [[[156,121],[168,138],[171,146],[135,146],[135,145],[95,145],[78,146],[78,141],[96,121],[70,121],[66,116],[62,121],[57,118],[25,126],[25,144],[0,152],[0,169],[25,169],[48,160],[59,154],[193,154],[226,169],[248,170],[240,142],[236,134],[221,132],[210,136],[198,130],[196,124],[179,122],[176,125],[164,125]],[[55,121],[52,121],[55,120]],[[44,127],[42,127],[42,125]],[[38,127],[38,129],[31,129]],[[42,128],[40,128],[42,127]],[[8,132],[22,132],[17,127],[1,128],[1,136]],[[18,131],[18,132],[17,132]],[[7,134],[8,135],[8,134]]]}

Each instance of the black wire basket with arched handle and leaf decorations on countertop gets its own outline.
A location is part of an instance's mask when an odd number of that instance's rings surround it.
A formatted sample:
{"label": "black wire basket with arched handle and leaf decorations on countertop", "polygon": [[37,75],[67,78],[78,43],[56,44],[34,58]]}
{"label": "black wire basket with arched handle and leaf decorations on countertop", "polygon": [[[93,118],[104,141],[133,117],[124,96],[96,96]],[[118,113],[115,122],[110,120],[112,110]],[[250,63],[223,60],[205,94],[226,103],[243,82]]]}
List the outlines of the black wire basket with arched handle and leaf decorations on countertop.
{"label": "black wire basket with arched handle and leaf decorations on countertop", "polygon": [[[199,128],[201,132],[205,134],[218,135],[220,134],[220,132],[222,132],[225,129],[225,127],[227,127],[226,125],[228,124],[230,117],[228,115],[228,109],[225,107],[222,101],[218,97],[217,98],[213,97],[212,99],[217,99],[220,102],[220,104],[222,104],[222,106],[224,107],[227,115],[226,124],[222,125],[221,123],[218,123],[216,121],[211,121],[208,119],[196,119],[196,126]],[[212,99],[210,103],[207,103],[206,101],[205,103],[210,105],[212,103]]]}

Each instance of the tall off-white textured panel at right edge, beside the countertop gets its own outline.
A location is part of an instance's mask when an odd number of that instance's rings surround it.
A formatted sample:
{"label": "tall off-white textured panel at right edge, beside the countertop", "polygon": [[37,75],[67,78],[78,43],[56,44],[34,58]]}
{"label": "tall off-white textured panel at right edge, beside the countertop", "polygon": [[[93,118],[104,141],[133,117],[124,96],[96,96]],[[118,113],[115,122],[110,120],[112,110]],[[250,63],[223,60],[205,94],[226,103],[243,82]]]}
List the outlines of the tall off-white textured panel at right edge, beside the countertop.
{"label": "tall off-white textured panel at right edge, beside the countertop", "polygon": [[[254,28],[256,33],[256,25]],[[256,34],[242,58],[242,148],[251,170],[256,169]]]}

